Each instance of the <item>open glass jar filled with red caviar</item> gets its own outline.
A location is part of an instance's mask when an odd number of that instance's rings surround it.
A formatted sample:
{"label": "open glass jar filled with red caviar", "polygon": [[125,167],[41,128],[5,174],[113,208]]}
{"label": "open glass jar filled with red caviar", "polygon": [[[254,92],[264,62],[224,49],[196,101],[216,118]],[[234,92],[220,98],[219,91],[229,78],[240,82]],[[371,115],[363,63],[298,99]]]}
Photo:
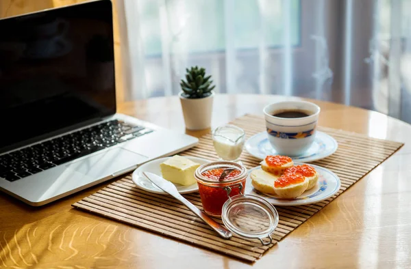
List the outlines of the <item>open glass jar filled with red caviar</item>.
{"label": "open glass jar filled with red caviar", "polygon": [[[223,179],[221,174],[225,174]],[[203,210],[210,216],[221,216],[224,203],[244,194],[247,169],[236,162],[210,162],[195,171]]]}

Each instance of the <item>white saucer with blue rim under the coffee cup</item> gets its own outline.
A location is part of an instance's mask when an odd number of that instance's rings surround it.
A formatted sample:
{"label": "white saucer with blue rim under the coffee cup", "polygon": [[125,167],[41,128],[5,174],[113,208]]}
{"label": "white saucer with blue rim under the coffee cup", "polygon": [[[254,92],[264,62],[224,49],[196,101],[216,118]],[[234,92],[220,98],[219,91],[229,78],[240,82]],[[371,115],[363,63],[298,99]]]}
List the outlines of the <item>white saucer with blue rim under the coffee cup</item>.
{"label": "white saucer with blue rim under the coffee cup", "polygon": [[[338,143],[336,139],[324,132],[317,131],[311,147],[301,156],[292,157],[292,160],[313,162],[314,160],[320,160],[330,156],[336,152],[337,148]],[[278,155],[271,146],[266,132],[259,132],[257,135],[250,137],[247,142],[245,142],[245,149],[249,154],[259,159],[264,159],[267,155]]]}

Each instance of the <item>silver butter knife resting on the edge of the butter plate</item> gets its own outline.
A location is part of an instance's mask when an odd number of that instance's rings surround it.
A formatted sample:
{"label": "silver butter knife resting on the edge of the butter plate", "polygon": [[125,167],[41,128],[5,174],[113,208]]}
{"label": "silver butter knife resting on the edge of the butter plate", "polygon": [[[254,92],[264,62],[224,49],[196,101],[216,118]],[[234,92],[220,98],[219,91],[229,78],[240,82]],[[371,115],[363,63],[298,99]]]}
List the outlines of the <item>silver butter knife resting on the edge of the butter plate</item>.
{"label": "silver butter knife resting on the edge of the butter plate", "polygon": [[179,194],[177,188],[175,188],[173,183],[169,182],[168,180],[164,180],[164,178],[158,175],[155,175],[153,173],[142,172],[142,174],[145,175],[145,177],[148,178],[151,182],[153,182],[155,186],[158,186],[158,188],[161,188],[166,193],[173,196],[178,201],[182,202],[184,206],[186,206],[189,210],[191,210],[194,214],[196,214],[199,218],[201,218],[207,225],[212,227],[214,231],[219,233],[219,236],[221,236],[224,239],[229,239],[232,237],[232,233],[230,231],[225,229],[223,226],[219,225],[219,223],[216,223],[216,221],[210,218],[210,216],[208,216],[206,213],[199,210],[192,203],[190,203],[186,198],[182,197],[182,195]]}

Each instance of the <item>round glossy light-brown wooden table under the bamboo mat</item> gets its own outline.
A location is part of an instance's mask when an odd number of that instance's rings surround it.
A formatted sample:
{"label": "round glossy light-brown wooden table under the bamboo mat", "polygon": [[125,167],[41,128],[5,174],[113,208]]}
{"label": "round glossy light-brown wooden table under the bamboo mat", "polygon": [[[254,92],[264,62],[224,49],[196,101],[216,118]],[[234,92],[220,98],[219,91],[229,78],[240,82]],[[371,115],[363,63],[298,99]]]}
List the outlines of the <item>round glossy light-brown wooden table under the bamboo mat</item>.
{"label": "round glossy light-brown wooden table under the bamboo mat", "polygon": [[[282,96],[218,95],[213,126],[261,114]],[[297,98],[293,98],[297,99]],[[253,266],[395,268],[411,264],[411,126],[373,111],[314,101],[320,125],[405,142],[394,156],[290,233]],[[119,104],[121,113],[184,132],[179,100]],[[203,132],[190,132],[201,135]],[[110,181],[111,182],[111,181]],[[100,184],[42,208],[0,194],[0,268],[247,268],[251,264],[71,208]],[[14,267],[13,267],[14,266]]]}

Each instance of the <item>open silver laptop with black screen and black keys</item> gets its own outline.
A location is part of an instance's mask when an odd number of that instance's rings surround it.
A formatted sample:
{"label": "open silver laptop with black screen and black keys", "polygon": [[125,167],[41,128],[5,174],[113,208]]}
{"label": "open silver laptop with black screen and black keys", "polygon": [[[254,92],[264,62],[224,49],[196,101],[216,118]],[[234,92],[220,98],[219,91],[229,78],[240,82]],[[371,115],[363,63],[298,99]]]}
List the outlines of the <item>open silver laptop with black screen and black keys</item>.
{"label": "open silver laptop with black screen and black keys", "polygon": [[3,192],[42,206],[198,143],[116,113],[111,1],[5,18],[0,29]]}

